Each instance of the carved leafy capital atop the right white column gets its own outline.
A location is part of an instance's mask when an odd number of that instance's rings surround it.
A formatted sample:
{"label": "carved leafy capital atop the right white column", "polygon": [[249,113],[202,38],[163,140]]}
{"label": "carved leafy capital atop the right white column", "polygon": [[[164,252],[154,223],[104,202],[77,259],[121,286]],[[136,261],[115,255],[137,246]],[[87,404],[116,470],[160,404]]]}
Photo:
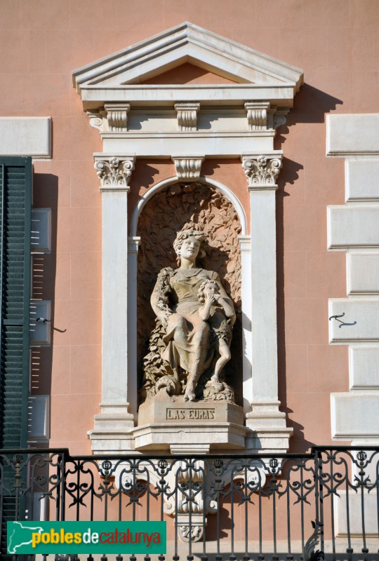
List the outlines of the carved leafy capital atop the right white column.
{"label": "carved leafy capital atop the right white column", "polygon": [[249,189],[277,189],[281,154],[277,156],[243,156],[242,167]]}

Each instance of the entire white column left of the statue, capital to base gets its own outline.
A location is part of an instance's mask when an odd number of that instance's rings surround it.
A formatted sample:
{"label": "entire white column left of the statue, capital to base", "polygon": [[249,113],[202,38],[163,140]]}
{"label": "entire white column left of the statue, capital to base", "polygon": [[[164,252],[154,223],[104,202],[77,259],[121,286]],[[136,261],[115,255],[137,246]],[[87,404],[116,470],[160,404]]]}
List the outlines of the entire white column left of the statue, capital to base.
{"label": "entire white column left of the statue, capital to base", "polygon": [[99,453],[130,449],[134,427],[127,320],[128,182],[134,161],[133,156],[95,155],[102,193],[102,403],[89,435],[93,451]]}

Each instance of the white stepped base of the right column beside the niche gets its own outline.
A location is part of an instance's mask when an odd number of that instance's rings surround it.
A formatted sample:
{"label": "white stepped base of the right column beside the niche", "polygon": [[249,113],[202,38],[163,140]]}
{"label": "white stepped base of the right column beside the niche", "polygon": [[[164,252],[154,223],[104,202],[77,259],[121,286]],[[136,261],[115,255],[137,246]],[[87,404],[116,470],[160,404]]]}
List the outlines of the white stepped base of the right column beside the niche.
{"label": "white stepped base of the right column beside the niche", "polygon": [[246,413],[246,426],[251,430],[246,435],[246,451],[288,452],[293,428],[286,426],[286,414],[279,411],[279,405],[280,401],[251,403],[251,412]]}

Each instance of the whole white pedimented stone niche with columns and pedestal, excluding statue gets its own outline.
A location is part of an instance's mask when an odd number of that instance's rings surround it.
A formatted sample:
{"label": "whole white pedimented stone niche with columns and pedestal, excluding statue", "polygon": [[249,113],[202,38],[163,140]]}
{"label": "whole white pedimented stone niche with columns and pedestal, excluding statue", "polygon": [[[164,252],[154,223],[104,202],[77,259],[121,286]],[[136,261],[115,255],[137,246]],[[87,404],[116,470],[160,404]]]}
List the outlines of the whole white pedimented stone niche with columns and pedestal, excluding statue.
{"label": "whole white pedimented stone niche with columns and pedestal, excluding statue", "polygon": [[[200,74],[209,83],[191,80]],[[102,191],[102,403],[89,431],[93,451],[286,452],[292,429],[278,400],[275,223],[283,154],[274,137],[302,71],[184,22],[75,70],[73,81],[103,148],[94,154]],[[157,158],[173,163],[173,177],[157,177],[128,208],[135,161]],[[248,209],[232,182],[201,173],[206,158],[240,159]],[[178,388],[157,388],[149,297],[157,273],[177,267],[172,244],[187,223],[206,232],[201,267],[220,273],[237,312],[222,399],[209,393],[207,379],[190,402]],[[154,353],[155,373],[146,364]]]}

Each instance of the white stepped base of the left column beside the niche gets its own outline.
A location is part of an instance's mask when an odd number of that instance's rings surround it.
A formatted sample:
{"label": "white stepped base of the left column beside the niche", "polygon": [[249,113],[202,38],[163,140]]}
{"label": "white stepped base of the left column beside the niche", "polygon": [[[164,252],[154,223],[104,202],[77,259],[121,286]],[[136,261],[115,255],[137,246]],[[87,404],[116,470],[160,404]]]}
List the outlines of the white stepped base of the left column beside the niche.
{"label": "white stepped base of the left column beside the niche", "polygon": [[134,417],[128,403],[100,403],[93,429],[88,431],[94,454],[118,454],[134,450]]}

